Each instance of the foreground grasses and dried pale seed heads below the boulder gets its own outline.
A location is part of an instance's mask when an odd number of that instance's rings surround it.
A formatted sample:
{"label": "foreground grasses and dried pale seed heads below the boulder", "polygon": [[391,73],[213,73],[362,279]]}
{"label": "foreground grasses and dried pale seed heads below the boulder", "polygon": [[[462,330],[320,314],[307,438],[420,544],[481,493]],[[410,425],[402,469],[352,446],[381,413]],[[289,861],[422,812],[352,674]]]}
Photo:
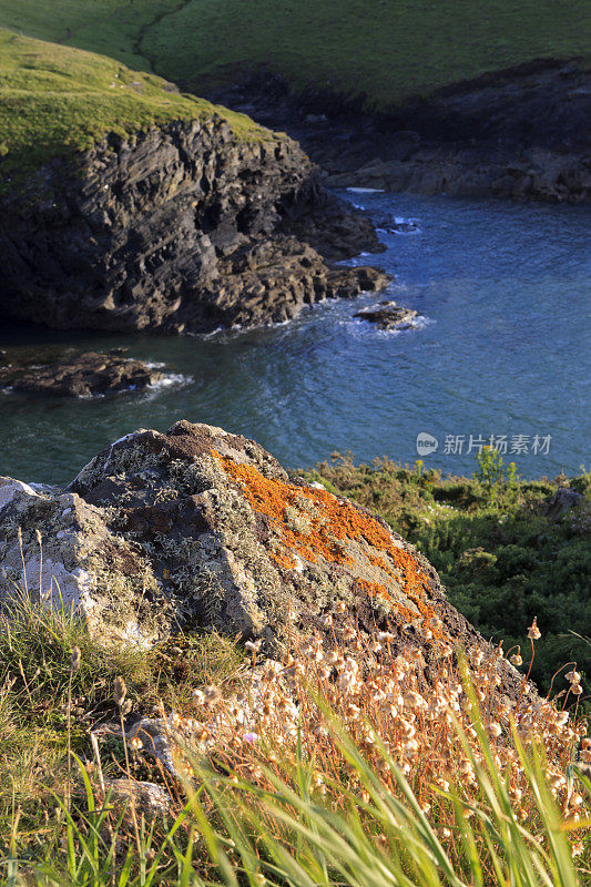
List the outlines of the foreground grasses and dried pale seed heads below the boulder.
{"label": "foreground grasses and dried pale seed heads below the boulder", "polygon": [[[294,638],[259,664],[257,643],[212,635],[105,649],[71,612],[16,599],[0,633],[0,883],[582,885],[591,741],[574,670],[554,703],[526,661],[511,699],[509,651],[442,645],[427,664],[333,616],[348,654]],[[534,621],[530,660],[538,639]]]}

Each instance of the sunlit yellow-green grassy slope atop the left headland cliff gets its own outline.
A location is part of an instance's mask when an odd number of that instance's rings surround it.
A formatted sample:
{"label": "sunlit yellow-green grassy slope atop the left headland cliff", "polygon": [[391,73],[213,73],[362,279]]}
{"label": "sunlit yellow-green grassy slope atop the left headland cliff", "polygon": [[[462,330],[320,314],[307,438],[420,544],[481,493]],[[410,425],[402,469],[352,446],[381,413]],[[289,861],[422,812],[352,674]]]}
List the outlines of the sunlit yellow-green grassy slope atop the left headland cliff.
{"label": "sunlit yellow-green grassy slope atop the left headland cliff", "polygon": [[243,114],[170,91],[165,81],[112,59],[0,30],[0,175],[88,149],[105,132],[220,113],[245,136]]}

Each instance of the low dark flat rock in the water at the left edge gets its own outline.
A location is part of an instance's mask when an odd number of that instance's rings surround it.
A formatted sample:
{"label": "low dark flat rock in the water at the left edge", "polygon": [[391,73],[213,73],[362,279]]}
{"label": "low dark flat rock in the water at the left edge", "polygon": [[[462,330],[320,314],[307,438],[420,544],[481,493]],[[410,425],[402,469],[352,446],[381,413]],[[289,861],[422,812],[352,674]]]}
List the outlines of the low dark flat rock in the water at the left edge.
{"label": "low dark flat rock in the water at the left edge", "polygon": [[50,354],[49,363],[39,363],[43,360],[42,354],[19,363],[17,353],[17,363],[0,366],[0,388],[59,397],[92,397],[147,388],[163,378],[160,369],[143,360],[121,357],[118,350],[61,357]]}

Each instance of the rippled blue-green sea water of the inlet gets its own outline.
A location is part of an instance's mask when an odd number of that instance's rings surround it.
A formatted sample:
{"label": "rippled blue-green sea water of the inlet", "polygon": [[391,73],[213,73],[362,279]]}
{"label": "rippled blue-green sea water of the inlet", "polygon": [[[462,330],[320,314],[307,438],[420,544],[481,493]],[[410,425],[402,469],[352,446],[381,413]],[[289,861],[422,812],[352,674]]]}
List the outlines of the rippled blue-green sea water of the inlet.
{"label": "rippled blue-green sea water of the inlet", "polygon": [[[373,296],[329,303],[287,326],[207,339],[4,326],[0,347],[123,345],[186,381],[86,401],[2,395],[0,473],[63,482],[126,431],[164,430],[180,418],[256,438],[289,467],[333,450],[414,461],[420,432],[439,441],[425,461],[446,472],[471,472],[475,447],[491,435],[507,435],[508,457],[526,476],[591,467],[591,210],[347,197],[377,222],[416,223],[414,233],[384,233],[387,251],[360,261],[396,274],[388,297],[417,308],[421,328],[381,333],[355,320]],[[521,451],[511,456],[517,436]],[[462,437],[461,453],[446,451],[447,438],[460,449]]]}

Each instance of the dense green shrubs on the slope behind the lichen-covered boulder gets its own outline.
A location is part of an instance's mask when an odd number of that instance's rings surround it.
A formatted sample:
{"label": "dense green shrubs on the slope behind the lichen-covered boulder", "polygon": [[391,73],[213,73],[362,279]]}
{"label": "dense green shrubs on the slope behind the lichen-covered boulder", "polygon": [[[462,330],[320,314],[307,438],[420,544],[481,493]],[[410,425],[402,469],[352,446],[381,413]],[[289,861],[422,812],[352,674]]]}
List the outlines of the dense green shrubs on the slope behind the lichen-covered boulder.
{"label": "dense green shrubs on the slope behind the lichen-covered boulder", "polygon": [[[401,466],[389,459],[356,466],[334,455],[307,475],[385,518],[439,572],[450,601],[495,643],[519,652],[516,626],[534,615],[542,629],[532,677],[546,692],[563,690],[577,659],[591,675],[591,475],[523,480],[514,465],[482,451],[472,477]],[[552,497],[572,490],[571,510]],[[583,636],[581,636],[583,635]]]}

